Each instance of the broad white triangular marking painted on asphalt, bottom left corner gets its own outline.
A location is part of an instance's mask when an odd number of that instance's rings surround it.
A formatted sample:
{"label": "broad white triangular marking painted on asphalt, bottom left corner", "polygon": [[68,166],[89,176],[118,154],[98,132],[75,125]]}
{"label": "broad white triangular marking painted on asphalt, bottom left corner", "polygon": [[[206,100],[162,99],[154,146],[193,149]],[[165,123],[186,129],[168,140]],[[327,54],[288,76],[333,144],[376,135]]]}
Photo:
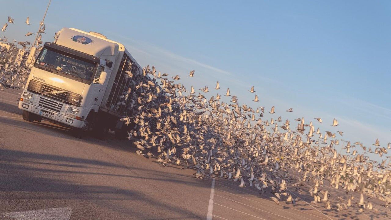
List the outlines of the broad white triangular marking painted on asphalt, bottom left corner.
{"label": "broad white triangular marking painted on asphalt, bottom left corner", "polygon": [[69,220],[72,215],[72,207],[3,213],[2,215],[15,218],[17,220]]}

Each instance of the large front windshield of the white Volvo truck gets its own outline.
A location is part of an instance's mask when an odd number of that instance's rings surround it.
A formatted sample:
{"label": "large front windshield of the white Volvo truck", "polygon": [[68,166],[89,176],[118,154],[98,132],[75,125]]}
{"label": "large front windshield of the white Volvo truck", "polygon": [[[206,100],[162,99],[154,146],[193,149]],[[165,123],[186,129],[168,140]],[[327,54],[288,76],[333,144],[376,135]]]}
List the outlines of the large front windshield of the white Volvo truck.
{"label": "large front windshield of the white Volvo truck", "polygon": [[76,81],[90,83],[97,63],[65,53],[61,50],[45,47],[39,54],[36,64],[53,69],[55,74],[70,76]]}

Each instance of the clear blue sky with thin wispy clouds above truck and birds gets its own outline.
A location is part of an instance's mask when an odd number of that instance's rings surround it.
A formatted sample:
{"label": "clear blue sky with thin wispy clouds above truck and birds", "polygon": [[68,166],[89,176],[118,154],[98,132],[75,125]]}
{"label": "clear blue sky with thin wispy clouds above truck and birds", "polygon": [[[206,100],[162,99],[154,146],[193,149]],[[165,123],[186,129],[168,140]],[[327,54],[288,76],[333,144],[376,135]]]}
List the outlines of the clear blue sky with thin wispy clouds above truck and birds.
{"label": "clear blue sky with thin wispy clouds above truck and birds", "polygon": [[[0,2],[0,21],[15,20],[1,34],[34,41],[24,34],[38,29],[47,1]],[[52,0],[45,23],[44,41],[62,27],[101,32],[142,66],[178,74],[187,87],[208,85],[208,96],[219,80],[219,94],[228,87],[241,104],[274,105],[274,118],[288,115],[292,127],[294,118],[317,127],[313,118],[322,117],[322,132],[343,130],[343,139],[367,146],[391,142],[390,1]]]}

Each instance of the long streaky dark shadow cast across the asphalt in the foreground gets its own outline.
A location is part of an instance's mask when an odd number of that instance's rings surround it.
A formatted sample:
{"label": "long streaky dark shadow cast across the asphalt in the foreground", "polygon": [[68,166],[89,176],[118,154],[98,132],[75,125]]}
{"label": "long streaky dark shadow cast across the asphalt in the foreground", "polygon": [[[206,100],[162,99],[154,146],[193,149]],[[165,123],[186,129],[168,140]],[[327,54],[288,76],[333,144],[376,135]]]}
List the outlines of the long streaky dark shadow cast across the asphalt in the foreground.
{"label": "long streaky dark shadow cast across the asphalt in the foreground", "polygon": [[[86,170],[96,167],[107,172]],[[133,175],[118,174],[134,173],[129,172],[129,170],[137,170],[144,175],[138,173]],[[74,181],[77,177],[81,179],[88,178],[84,177],[85,175],[93,176],[97,180],[100,179],[100,181]],[[124,184],[116,184],[115,178]],[[170,219],[174,219],[176,215],[181,216],[178,219],[203,218],[204,216],[197,216],[193,211],[161,200],[155,195],[156,193],[164,194],[165,186],[162,184],[163,182],[175,184],[178,189],[181,186],[210,187],[209,184],[200,184],[196,180],[180,178],[172,172],[162,173],[158,169],[118,165],[102,160],[5,149],[0,149],[0,182],[0,201],[7,204],[0,207],[0,213],[19,211],[15,210],[14,207],[21,204],[24,208],[29,207],[27,209],[43,209],[47,207],[42,201],[71,200],[81,201],[87,207],[98,206],[106,210],[105,213],[97,211],[92,214],[97,215],[97,218],[98,215],[107,216],[108,212],[112,212],[116,216],[138,219],[152,219],[151,215],[147,214],[150,208],[170,211],[172,213]],[[146,185],[156,182],[161,183],[153,186],[156,193],[147,194],[145,191],[132,186],[132,183],[135,182],[143,182]],[[13,204],[15,202],[18,204]],[[37,204],[42,206],[37,207]],[[141,205],[148,208],[140,209]],[[79,205],[75,204],[76,208],[77,206]]]}

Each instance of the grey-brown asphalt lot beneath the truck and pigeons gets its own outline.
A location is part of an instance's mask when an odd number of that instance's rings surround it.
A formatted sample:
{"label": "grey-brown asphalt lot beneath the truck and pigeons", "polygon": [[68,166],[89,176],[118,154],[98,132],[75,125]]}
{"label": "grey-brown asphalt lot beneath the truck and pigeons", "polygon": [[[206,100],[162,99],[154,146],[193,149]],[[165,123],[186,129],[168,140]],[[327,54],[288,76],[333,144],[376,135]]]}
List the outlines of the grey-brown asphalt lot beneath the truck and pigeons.
{"label": "grey-brown asphalt lot beneath the truck and pigeons", "polygon": [[238,182],[194,178],[135,153],[130,141],[77,139],[48,122],[23,121],[18,91],[0,91],[0,219],[288,219],[382,218],[337,212],[307,200],[276,205]]}

